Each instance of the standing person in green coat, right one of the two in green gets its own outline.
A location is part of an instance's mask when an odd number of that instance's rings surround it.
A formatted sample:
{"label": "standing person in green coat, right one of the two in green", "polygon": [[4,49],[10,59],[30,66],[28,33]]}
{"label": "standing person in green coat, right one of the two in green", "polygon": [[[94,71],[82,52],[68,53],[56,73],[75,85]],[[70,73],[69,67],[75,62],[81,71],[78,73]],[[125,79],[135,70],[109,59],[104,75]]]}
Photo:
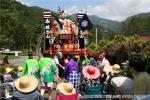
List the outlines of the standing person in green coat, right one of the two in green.
{"label": "standing person in green coat, right one of the two in green", "polygon": [[58,69],[54,60],[50,58],[49,51],[43,52],[43,57],[39,60],[39,71],[41,77],[41,95],[48,89],[49,99],[51,99],[54,75],[58,76]]}

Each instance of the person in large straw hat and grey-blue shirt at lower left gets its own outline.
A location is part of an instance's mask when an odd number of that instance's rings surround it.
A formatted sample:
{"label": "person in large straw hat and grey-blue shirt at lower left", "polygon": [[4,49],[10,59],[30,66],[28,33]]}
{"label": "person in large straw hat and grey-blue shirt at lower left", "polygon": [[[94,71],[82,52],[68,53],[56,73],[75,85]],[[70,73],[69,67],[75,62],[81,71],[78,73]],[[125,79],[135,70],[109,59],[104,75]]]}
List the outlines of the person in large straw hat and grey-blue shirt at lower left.
{"label": "person in large straw hat and grey-blue shirt at lower left", "polygon": [[16,91],[12,100],[44,100],[37,91],[38,80],[35,76],[25,75],[15,81]]}

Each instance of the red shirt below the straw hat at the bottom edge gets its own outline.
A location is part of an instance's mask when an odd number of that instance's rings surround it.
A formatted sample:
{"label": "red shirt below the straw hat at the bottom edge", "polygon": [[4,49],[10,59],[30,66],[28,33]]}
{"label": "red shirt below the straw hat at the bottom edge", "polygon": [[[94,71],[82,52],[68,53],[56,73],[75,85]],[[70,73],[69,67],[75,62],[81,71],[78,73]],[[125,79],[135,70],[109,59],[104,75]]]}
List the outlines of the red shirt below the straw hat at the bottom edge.
{"label": "red shirt below the straw hat at the bottom edge", "polygon": [[79,95],[78,93],[71,95],[58,94],[56,100],[79,100]]}

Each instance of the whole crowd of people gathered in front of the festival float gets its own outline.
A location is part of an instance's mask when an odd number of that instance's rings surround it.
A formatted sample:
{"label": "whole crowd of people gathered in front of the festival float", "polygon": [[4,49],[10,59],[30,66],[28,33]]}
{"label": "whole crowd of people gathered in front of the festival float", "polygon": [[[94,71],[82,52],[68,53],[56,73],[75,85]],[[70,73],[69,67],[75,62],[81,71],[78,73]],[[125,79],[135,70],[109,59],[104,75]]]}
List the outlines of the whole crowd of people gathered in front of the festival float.
{"label": "whole crowd of people gathered in front of the festival float", "polygon": [[[150,100],[150,75],[141,54],[132,54],[126,67],[104,49],[98,57],[83,50],[78,58],[62,52],[52,56],[47,50],[39,60],[32,51],[28,57],[16,78],[13,68],[0,73],[0,100]],[[3,64],[9,64],[7,57]],[[126,69],[133,78],[122,74]]]}

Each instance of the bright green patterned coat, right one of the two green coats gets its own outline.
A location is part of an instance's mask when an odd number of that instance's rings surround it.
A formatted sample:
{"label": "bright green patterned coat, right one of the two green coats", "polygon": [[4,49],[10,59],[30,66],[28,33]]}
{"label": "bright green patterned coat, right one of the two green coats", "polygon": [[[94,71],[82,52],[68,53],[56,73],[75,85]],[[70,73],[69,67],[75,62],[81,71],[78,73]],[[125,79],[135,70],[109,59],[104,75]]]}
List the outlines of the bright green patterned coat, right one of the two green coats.
{"label": "bright green patterned coat, right one of the two green coats", "polygon": [[39,60],[39,71],[41,81],[49,83],[54,81],[54,74],[58,72],[58,68],[53,59],[43,57]]}

